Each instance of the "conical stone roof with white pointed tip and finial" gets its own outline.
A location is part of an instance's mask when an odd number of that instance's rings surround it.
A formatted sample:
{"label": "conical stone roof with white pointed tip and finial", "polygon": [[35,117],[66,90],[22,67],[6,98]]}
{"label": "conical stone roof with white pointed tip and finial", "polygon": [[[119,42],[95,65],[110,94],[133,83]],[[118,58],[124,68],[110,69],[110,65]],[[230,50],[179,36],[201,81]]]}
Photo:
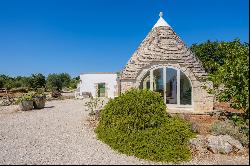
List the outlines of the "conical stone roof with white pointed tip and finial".
{"label": "conical stone roof with white pointed tip and finial", "polygon": [[141,71],[154,64],[171,63],[189,68],[195,77],[206,76],[199,59],[189,50],[170,25],[160,18],[129,59],[122,71],[121,80],[135,80]]}

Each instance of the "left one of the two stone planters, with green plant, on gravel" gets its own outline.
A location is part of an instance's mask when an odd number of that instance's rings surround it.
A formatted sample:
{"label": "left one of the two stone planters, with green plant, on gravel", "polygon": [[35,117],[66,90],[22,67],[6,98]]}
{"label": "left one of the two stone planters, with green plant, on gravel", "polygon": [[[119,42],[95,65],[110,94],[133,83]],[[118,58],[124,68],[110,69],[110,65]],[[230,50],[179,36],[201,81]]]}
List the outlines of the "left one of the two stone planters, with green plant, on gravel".
{"label": "left one of the two stone planters, with green plant, on gravel", "polygon": [[17,102],[21,111],[29,111],[33,109],[33,96],[30,93],[24,94]]}

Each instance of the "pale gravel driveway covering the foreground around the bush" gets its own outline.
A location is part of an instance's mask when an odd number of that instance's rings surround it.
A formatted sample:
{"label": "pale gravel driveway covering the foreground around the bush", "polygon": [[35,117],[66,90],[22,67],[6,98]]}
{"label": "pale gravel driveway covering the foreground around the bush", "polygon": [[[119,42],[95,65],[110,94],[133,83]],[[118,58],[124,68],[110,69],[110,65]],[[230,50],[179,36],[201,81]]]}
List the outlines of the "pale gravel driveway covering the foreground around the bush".
{"label": "pale gravel driveway covering the foreground around the bush", "polygon": [[[119,154],[95,138],[82,100],[46,103],[28,112],[0,107],[0,164],[162,164]],[[248,164],[249,158],[215,155],[183,164]]]}

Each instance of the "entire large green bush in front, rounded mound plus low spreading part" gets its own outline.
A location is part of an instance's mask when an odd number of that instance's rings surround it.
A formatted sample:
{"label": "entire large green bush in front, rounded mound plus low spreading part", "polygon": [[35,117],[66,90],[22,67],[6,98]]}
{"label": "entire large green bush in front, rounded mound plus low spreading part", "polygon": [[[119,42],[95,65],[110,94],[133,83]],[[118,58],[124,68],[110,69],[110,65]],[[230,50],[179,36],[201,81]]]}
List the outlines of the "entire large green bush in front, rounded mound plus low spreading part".
{"label": "entire large green bush in front, rounded mound plus low spreading part", "polygon": [[190,125],[170,117],[157,92],[128,91],[110,100],[100,113],[97,137],[113,149],[153,161],[188,160]]}

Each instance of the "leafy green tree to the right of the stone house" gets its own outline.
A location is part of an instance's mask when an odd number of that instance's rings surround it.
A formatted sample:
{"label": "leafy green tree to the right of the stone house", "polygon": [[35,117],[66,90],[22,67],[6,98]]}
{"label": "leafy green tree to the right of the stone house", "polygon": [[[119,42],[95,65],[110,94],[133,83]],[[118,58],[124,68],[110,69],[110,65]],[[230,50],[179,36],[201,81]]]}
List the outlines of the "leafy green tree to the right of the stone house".
{"label": "leafy green tree to the right of the stone house", "polygon": [[213,82],[219,101],[229,102],[231,107],[249,112],[249,44],[239,39],[231,42],[194,44],[191,50],[202,61]]}

